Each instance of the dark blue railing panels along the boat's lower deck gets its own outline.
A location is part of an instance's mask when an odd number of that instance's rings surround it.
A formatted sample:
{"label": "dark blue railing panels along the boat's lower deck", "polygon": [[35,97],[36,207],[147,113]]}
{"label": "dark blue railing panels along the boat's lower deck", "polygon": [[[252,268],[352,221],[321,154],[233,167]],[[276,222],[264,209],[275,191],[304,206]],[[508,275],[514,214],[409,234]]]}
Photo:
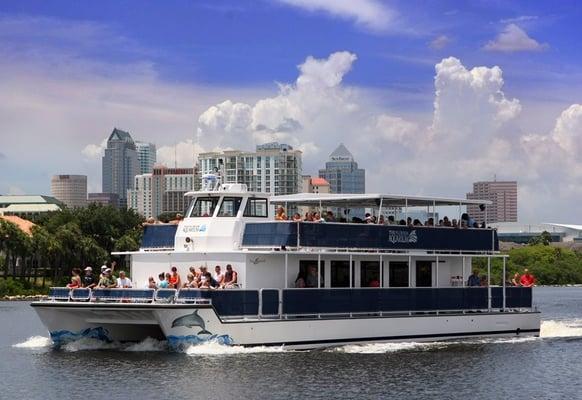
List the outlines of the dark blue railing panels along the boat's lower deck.
{"label": "dark blue railing panels along the boat's lower deck", "polygon": [[[52,301],[76,300],[76,290],[51,288]],[[489,309],[489,288],[353,288],[353,289],[93,289],[93,301],[209,304],[220,317],[465,312]],[[506,288],[505,308],[532,307],[532,288]],[[79,293],[81,295],[81,293]],[[82,293],[83,297],[87,293]],[[88,299],[87,298],[87,299]],[[491,287],[491,309],[503,309],[503,288]]]}

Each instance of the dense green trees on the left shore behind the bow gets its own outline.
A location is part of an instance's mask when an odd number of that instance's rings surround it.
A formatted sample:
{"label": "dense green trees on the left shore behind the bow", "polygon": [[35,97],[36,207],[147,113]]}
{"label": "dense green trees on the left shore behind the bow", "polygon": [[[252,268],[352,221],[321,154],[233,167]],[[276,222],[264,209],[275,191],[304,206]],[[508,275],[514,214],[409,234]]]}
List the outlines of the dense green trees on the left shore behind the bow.
{"label": "dense green trees on the left shore behind the bow", "polygon": [[[91,204],[47,213],[33,221],[32,235],[0,220],[0,294],[2,285],[31,288],[66,283],[75,267],[101,266],[113,251],[139,249],[143,217],[131,209]],[[34,279],[33,279],[34,278]],[[11,282],[9,282],[11,281]],[[15,283],[17,282],[17,283]],[[14,290],[4,289],[4,292]]]}

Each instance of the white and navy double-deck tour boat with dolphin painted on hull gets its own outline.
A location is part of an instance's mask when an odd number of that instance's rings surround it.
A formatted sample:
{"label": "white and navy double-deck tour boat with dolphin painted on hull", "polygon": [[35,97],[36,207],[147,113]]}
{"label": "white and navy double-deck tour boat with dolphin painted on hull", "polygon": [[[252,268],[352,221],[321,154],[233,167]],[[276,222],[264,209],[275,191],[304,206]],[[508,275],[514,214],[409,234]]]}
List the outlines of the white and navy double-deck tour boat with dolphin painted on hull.
{"label": "white and navy double-deck tour boat with dolphin painted on hull", "polygon": [[[130,258],[132,289],[51,288],[32,303],[55,344],[90,337],[105,341],[166,340],[172,349],[216,341],[225,345],[311,349],[389,341],[539,335],[532,288],[491,284],[503,265],[490,228],[275,220],[288,212],[350,210],[407,215],[455,210],[461,200],[385,194],[255,193],[206,175],[178,224],[144,228]],[[416,210],[416,211],[415,211]],[[344,220],[342,218],[341,220]],[[398,220],[398,218],[397,218]],[[483,286],[467,287],[480,259]],[[146,289],[149,277],[176,267],[227,264],[228,289]],[[301,277],[297,280],[297,277]],[[307,282],[306,282],[307,281]],[[307,284],[304,284],[307,283]],[[301,287],[296,287],[301,286]],[[310,287],[303,287],[310,286]]]}

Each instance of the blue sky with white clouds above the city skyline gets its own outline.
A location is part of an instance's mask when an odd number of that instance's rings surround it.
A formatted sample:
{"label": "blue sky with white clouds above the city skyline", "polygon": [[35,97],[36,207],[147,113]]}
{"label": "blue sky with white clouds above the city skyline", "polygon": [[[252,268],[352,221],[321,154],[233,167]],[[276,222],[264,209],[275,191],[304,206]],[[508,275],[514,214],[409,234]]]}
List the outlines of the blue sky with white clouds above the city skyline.
{"label": "blue sky with white clouds above the city skyline", "polygon": [[[101,190],[114,127],[158,161],[343,142],[368,192],[517,180],[519,220],[582,224],[577,1],[0,2],[0,194]],[[578,147],[581,149],[578,149]]]}

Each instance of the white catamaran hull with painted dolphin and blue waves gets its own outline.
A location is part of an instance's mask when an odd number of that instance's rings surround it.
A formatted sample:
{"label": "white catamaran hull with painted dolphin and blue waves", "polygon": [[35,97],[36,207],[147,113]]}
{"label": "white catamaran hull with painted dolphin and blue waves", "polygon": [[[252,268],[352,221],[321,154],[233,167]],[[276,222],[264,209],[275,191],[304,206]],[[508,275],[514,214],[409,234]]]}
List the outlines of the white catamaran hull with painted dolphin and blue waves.
{"label": "white catamaran hull with painted dolphin and blue waves", "polygon": [[55,344],[165,339],[173,349],[226,345],[313,349],[345,344],[539,335],[539,312],[221,320],[211,306],[33,303]]}

